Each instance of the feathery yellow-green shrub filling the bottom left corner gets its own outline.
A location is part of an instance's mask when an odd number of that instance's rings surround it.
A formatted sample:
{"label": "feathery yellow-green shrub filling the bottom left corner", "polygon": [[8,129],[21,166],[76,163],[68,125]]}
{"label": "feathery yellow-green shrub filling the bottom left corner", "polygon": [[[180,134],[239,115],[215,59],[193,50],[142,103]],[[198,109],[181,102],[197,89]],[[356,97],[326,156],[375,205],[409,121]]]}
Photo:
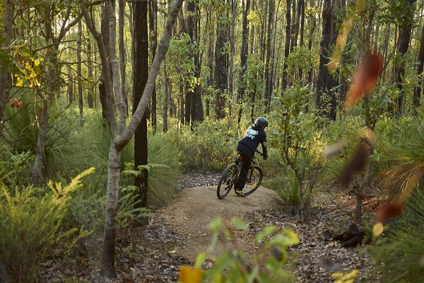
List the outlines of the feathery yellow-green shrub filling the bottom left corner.
{"label": "feathery yellow-green shrub filling the bottom left corner", "polygon": [[[12,282],[33,282],[37,265],[56,241],[78,229],[61,231],[71,193],[81,187],[81,179],[93,173],[84,171],[63,187],[49,183],[49,192],[32,186],[0,191],[0,262]],[[88,232],[80,230],[80,236]]]}

